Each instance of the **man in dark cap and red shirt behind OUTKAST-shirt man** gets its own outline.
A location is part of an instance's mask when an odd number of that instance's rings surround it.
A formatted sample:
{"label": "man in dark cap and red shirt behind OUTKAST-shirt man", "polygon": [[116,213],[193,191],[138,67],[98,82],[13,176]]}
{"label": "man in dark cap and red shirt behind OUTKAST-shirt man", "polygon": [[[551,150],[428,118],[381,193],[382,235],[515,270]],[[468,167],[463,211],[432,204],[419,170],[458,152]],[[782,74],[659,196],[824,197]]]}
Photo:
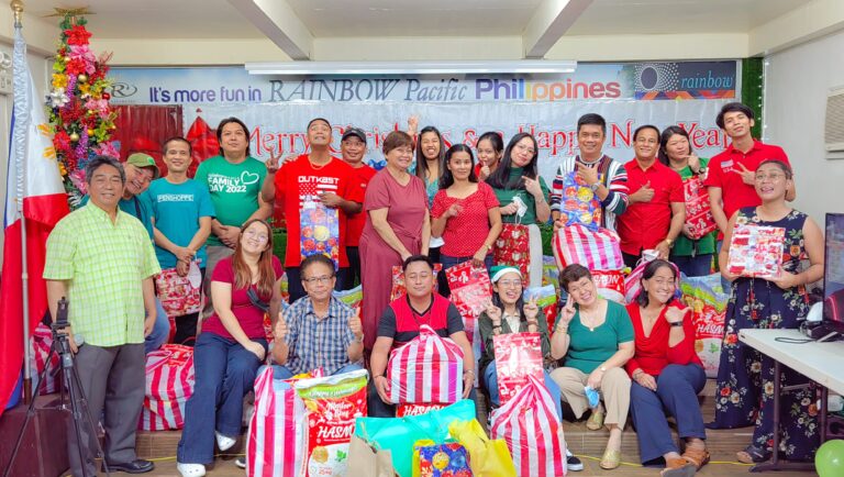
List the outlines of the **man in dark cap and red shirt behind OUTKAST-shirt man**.
{"label": "man in dark cap and red shirt behind OUTKAST-shirt man", "polygon": [[[358,127],[348,127],[340,141],[340,153],[343,160],[355,169],[356,187],[360,188],[360,198],[366,193],[366,185],[375,176],[377,170],[364,164],[366,155],[366,133]],[[360,234],[366,224],[366,212],[349,214],[346,221],[346,256],[348,257],[348,274],[345,277],[346,289],[355,286],[355,280],[360,281],[360,255],[357,246],[360,243]]]}

